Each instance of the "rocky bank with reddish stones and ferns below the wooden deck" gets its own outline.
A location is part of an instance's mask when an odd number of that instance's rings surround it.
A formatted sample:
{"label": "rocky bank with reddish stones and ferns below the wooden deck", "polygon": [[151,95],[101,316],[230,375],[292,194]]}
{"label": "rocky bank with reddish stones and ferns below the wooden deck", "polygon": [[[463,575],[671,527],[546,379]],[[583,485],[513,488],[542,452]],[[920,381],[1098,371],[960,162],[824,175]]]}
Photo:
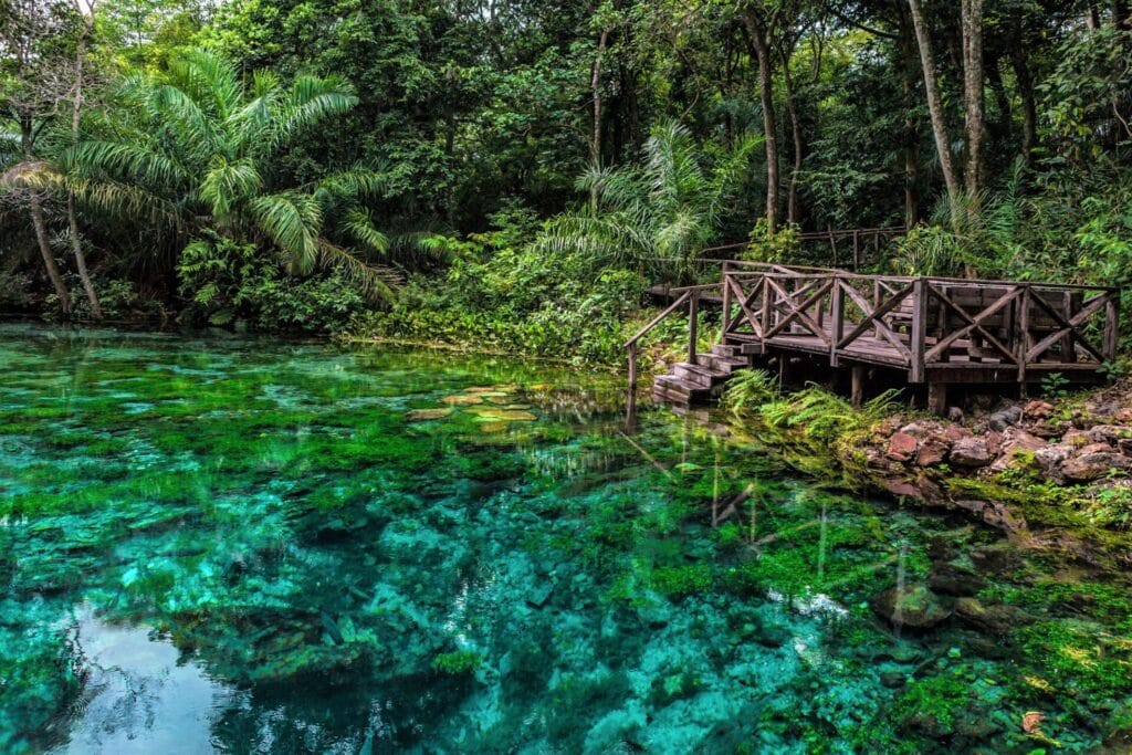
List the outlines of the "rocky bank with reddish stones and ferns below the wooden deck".
{"label": "rocky bank with reddish stones and ferns below the wooden deck", "polygon": [[[757,383],[749,378],[747,383]],[[850,489],[964,509],[1082,559],[1132,565],[1132,383],[1003,400],[957,420],[891,397],[854,409],[818,388],[782,397],[737,385],[739,432],[767,432],[803,471]],[[754,396],[754,397],[753,397]],[[815,424],[816,422],[816,424]]]}

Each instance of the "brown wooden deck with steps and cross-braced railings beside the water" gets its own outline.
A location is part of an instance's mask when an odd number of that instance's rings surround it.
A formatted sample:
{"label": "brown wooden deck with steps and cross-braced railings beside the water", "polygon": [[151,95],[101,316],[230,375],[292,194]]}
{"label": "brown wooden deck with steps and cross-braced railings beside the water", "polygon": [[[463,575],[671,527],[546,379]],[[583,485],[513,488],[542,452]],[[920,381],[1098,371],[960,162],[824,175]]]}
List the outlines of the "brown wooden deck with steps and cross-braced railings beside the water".
{"label": "brown wooden deck with steps and cross-braced railings beside the water", "polygon": [[[926,385],[942,411],[952,384],[1027,385],[1057,372],[1094,381],[1116,357],[1120,291],[1113,288],[722,261],[718,283],[671,289],[676,300],[626,342],[636,385],[641,340],[688,315],[687,360],[657,378],[654,397],[691,404],[719,395],[736,370],[804,357],[848,368],[859,401],[866,368]],[[721,338],[697,353],[701,304],[722,306]]]}

